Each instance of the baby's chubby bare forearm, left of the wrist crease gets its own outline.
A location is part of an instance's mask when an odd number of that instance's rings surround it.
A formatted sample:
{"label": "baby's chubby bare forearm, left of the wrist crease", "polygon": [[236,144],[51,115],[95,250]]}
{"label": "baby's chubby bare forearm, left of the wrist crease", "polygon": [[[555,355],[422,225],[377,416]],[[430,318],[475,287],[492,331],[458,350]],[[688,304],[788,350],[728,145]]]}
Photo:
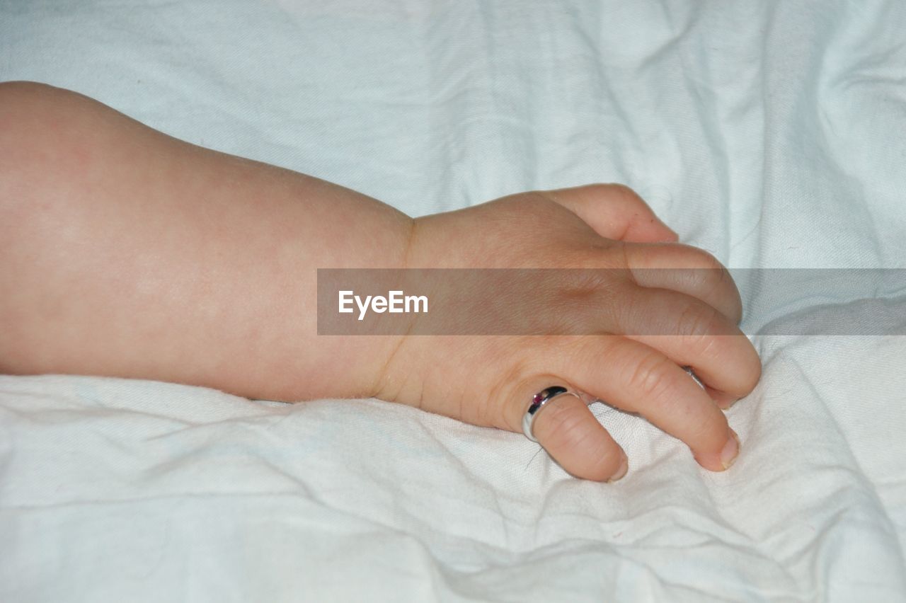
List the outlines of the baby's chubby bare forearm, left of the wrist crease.
{"label": "baby's chubby bare forearm, left of the wrist crease", "polygon": [[0,124],[0,369],[371,395],[394,341],[318,338],[316,270],[400,266],[409,217],[72,93],[18,93]]}

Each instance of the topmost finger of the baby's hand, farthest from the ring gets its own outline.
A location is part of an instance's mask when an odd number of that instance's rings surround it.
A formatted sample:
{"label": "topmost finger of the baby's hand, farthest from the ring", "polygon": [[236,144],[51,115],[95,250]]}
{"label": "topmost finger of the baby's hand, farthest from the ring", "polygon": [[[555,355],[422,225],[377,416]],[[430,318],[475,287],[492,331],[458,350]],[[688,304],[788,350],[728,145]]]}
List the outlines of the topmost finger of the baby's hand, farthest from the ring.
{"label": "topmost finger of the baby's hand, farthest from the ring", "polygon": [[605,238],[635,243],[679,240],[629,187],[593,184],[538,192],[578,215]]}

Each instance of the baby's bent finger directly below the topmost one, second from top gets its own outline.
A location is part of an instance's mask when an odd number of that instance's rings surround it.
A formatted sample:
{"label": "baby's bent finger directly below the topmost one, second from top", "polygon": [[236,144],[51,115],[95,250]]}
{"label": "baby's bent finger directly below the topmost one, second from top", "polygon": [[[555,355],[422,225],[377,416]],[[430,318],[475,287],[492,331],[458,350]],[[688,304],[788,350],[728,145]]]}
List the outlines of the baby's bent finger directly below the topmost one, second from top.
{"label": "baby's bent finger directly below the topmost one, second from top", "polygon": [[683,244],[627,244],[624,253],[641,286],[686,293],[735,324],[742,319],[742,300],[733,277],[708,252]]}

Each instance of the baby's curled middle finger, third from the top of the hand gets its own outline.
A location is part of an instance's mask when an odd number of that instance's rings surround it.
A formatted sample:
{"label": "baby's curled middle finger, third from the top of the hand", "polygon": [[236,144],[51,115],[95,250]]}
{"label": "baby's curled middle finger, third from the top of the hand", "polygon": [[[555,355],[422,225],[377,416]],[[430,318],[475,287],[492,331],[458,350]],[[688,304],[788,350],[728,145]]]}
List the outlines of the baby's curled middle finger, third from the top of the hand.
{"label": "baby's curled middle finger, third from the top of the hand", "polygon": [[747,396],[761,377],[761,359],[736,324],[708,303],[669,289],[629,290],[613,310],[619,332],[689,366],[721,407]]}

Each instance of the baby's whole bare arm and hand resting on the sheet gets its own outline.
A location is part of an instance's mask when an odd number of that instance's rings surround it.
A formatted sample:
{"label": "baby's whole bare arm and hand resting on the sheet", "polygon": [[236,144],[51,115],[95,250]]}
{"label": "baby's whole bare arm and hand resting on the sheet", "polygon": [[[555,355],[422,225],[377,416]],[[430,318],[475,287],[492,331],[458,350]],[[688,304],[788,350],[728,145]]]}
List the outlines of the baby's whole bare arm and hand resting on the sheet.
{"label": "baby's whole bare arm and hand resting on the sheet", "polygon": [[[535,392],[562,383],[645,416],[712,471],[737,453],[723,409],[760,376],[727,271],[678,244],[619,185],[412,219],[77,93],[6,82],[0,210],[5,373],[150,378],[287,401],[380,397],[517,433]],[[327,267],[623,270],[566,283],[532,308],[596,335],[319,337],[316,269]],[[709,270],[645,270],[670,267]],[[648,324],[663,334],[634,334]],[[574,397],[545,407],[535,436],[575,476],[625,474],[622,449]]]}

